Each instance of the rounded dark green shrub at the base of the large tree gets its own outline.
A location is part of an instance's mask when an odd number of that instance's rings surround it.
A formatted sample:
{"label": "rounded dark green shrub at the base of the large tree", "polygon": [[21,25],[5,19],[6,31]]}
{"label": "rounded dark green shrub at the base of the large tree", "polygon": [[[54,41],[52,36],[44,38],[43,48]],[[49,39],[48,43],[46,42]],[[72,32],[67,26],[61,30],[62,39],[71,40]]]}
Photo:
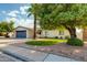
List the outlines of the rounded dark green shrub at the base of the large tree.
{"label": "rounded dark green shrub at the base of the large tree", "polygon": [[67,44],[73,45],[73,46],[83,46],[84,42],[79,39],[70,37],[70,39],[68,39]]}

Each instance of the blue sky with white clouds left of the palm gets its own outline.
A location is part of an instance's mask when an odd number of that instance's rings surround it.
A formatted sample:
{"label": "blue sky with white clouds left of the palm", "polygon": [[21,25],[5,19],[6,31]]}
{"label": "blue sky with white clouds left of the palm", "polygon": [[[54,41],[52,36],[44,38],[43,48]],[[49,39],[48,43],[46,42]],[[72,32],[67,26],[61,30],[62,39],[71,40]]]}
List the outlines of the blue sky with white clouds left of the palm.
{"label": "blue sky with white clouds left of the palm", "polygon": [[0,3],[0,22],[13,20],[14,26],[33,26],[33,17],[28,18],[26,9],[31,7],[25,3]]}

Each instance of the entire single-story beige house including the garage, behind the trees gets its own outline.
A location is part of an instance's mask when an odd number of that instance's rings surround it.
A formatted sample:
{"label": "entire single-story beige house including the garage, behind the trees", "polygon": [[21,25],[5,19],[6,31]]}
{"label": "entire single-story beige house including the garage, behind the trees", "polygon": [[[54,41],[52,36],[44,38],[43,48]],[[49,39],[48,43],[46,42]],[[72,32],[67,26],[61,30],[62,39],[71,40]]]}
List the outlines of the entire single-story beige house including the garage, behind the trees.
{"label": "entire single-story beige house including the garage, behind the trees", "polygon": [[[87,40],[87,29],[76,29],[77,37],[80,40]],[[69,37],[69,33],[67,30],[58,31],[58,30],[43,30],[40,34],[36,34],[37,37],[58,37],[58,39],[65,39]],[[18,26],[14,29],[11,37],[15,39],[26,39],[33,37],[33,29],[24,28],[24,26]]]}

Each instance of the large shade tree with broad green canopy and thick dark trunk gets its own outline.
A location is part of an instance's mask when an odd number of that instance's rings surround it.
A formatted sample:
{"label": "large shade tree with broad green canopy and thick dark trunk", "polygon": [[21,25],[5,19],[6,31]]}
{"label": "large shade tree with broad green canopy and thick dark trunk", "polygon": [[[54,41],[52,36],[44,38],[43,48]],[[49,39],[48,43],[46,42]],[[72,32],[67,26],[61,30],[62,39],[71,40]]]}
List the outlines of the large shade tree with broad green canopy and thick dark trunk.
{"label": "large shade tree with broad green canopy and thick dark trunk", "polygon": [[[35,4],[33,4],[35,7]],[[87,4],[53,3],[39,4],[36,12],[40,25],[44,30],[66,29],[70,37],[76,37],[76,28],[87,25]],[[33,8],[33,7],[32,7]]]}

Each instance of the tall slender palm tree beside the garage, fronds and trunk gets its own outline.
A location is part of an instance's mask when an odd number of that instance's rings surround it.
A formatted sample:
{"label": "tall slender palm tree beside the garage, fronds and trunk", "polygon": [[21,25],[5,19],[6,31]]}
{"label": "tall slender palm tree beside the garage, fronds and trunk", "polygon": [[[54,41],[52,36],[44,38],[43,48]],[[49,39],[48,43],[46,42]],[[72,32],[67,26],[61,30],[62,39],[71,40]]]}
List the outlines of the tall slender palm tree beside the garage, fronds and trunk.
{"label": "tall slender palm tree beside the garage, fronds and trunk", "polygon": [[33,15],[34,18],[34,28],[33,28],[33,39],[36,37],[36,21],[37,21],[37,11],[39,11],[39,4],[31,4],[28,9],[28,17]]}

